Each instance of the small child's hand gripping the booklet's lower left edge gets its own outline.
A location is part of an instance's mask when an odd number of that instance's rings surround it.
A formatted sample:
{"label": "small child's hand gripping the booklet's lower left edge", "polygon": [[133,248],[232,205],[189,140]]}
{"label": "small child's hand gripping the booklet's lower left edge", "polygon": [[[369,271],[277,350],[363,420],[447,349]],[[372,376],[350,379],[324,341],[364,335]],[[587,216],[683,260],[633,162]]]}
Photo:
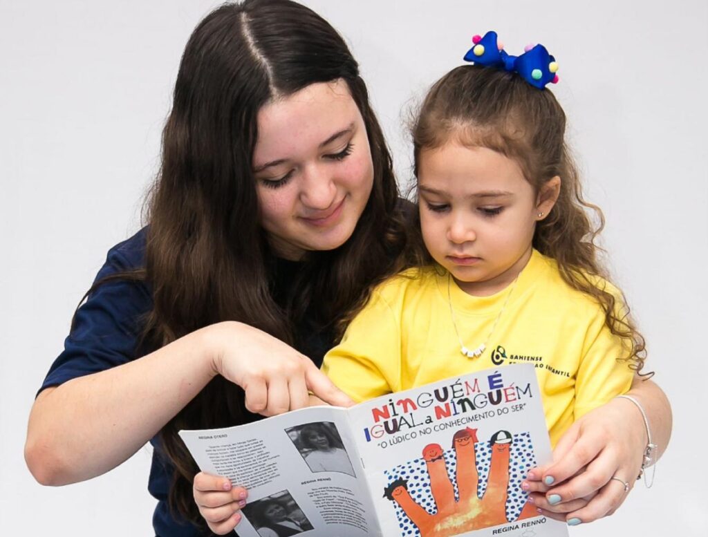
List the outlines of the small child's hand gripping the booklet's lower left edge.
{"label": "small child's hand gripping the booklet's lower left edge", "polygon": [[217,535],[226,535],[241,521],[247,492],[242,487],[232,487],[228,478],[200,472],[194,476],[193,492],[200,514]]}

